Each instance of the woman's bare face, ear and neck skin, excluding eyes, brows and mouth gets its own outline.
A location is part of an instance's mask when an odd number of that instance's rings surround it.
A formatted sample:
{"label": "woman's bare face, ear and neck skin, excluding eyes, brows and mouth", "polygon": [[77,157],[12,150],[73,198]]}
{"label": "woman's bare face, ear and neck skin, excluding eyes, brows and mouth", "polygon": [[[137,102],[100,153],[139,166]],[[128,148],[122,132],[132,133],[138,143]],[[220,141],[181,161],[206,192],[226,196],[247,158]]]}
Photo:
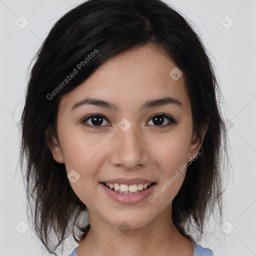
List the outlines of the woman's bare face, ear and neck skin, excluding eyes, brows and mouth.
{"label": "woman's bare face, ear and neck skin, excluding eyes, brows and mouth", "polygon": [[[169,75],[175,66],[156,45],[135,47],[107,60],[62,96],[58,138],[48,146],[55,161],[65,163],[67,173],[75,169],[80,175],[74,183],[69,182],[88,208],[91,228],[79,243],[77,256],[193,255],[192,243],[177,231],[171,219],[171,201],[185,171],[154,202],[148,197],[133,204],[116,202],[99,185],[109,178],[142,177],[157,183],[153,195],[200,149],[202,141],[192,130],[184,76],[174,80]],[[71,111],[72,105],[85,96],[107,100],[119,110],[87,104]],[[139,111],[145,101],[165,96],[178,99],[182,107],[165,104]],[[157,128],[151,118],[161,112],[177,123]],[[99,129],[81,123],[84,117],[96,113],[105,118]],[[117,125],[123,118],[131,123],[125,132]],[[87,123],[92,125],[92,119]],[[160,125],[167,123],[170,121],[165,117]],[[202,138],[206,129],[202,127]],[[123,221],[130,227],[126,233],[118,228]]]}

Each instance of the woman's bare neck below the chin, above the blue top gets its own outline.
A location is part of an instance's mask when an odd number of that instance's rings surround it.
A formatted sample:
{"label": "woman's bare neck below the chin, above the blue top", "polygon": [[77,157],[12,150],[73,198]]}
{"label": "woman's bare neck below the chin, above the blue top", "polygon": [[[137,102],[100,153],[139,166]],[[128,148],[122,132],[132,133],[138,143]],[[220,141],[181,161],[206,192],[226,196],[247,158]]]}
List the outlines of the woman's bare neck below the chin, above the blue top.
{"label": "woman's bare neck below the chin, above the blue top", "polygon": [[[120,229],[88,209],[90,229],[77,247],[77,256],[85,255],[178,255],[182,248],[193,255],[193,245],[184,238],[171,219],[171,204],[160,215],[138,228]],[[173,253],[172,253],[173,252]],[[181,253],[182,254],[182,253]]]}

